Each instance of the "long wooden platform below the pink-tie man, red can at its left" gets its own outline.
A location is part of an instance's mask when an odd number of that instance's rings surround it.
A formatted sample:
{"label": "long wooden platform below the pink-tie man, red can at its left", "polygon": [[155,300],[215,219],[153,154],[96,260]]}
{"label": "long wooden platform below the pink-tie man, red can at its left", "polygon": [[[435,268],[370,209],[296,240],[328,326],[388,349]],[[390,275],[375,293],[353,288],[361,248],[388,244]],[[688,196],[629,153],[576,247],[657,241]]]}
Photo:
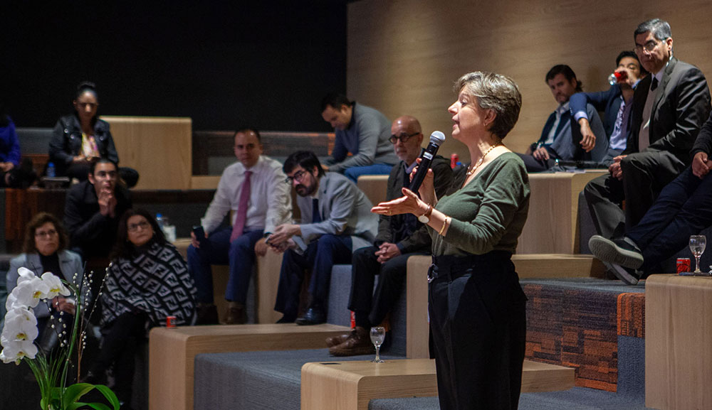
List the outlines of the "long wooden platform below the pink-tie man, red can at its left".
{"label": "long wooden platform below the pink-tie man, red can at its left", "polygon": [[200,353],[312,349],[344,326],[216,325],[154,328],[149,340],[150,410],[192,410],[194,359]]}

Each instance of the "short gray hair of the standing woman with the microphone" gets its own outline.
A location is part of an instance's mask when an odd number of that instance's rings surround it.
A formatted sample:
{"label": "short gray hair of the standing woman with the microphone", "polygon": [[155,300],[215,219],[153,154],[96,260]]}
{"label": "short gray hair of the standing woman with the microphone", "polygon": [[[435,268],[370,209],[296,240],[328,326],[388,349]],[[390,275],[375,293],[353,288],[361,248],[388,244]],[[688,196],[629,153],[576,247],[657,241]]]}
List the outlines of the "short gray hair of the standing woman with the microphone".
{"label": "short gray hair of the standing woman with the microphone", "polygon": [[510,77],[495,72],[469,72],[455,82],[454,89],[476,97],[480,108],[494,110],[496,117],[489,130],[499,139],[507,136],[517,123],[522,95]]}

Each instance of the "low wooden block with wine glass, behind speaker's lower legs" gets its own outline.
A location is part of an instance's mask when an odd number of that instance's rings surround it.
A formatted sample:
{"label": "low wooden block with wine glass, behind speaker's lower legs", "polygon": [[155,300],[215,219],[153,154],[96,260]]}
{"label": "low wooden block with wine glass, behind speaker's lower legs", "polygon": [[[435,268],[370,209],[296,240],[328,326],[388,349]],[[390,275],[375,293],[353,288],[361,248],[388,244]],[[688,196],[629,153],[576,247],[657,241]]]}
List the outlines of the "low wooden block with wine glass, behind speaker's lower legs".
{"label": "low wooden block with wine glass, behind speaker's lower legs", "polygon": [[[574,369],[525,360],[522,392],[574,386]],[[435,361],[318,362],[302,367],[302,410],[367,410],[371,399],[437,396]]]}

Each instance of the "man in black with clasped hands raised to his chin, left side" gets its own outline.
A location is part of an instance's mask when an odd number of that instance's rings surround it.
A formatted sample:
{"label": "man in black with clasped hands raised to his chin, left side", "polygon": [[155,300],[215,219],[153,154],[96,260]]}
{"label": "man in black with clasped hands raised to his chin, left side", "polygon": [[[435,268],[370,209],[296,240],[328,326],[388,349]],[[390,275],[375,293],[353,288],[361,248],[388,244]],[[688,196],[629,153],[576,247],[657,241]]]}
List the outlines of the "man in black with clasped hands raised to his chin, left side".
{"label": "man in black with clasped hands raised to his chin, left side", "polygon": [[88,180],[73,185],[64,205],[64,226],[71,250],[84,260],[108,258],[119,220],[131,207],[129,190],[117,183],[115,163],[99,158],[90,164]]}

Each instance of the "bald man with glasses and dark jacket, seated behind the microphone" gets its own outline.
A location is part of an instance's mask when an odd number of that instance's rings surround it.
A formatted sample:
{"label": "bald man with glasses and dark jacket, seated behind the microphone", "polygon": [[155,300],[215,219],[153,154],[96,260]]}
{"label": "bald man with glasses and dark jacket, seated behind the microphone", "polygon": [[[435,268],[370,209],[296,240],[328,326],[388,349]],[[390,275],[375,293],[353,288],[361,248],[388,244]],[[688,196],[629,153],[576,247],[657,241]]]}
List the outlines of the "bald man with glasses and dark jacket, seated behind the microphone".
{"label": "bald man with glasses and dark jacket, seated behind the microphone", "polygon": [[[409,176],[417,165],[415,160],[423,143],[418,120],[408,115],[397,118],[391,124],[390,141],[401,162],[393,167],[388,177],[386,200],[400,198],[402,188],[409,185]],[[452,182],[452,169],[441,156],[433,158],[431,168],[436,193],[442,197]],[[430,246],[427,227],[414,215],[379,217],[374,246],[357,249],[352,259],[349,309],[355,312],[356,328],[351,333],[326,340],[331,354],[352,356],[373,350],[370,328],[379,325],[398,300],[406,277],[408,258],[414,254],[429,254]],[[376,275],[379,281],[374,292]]]}

